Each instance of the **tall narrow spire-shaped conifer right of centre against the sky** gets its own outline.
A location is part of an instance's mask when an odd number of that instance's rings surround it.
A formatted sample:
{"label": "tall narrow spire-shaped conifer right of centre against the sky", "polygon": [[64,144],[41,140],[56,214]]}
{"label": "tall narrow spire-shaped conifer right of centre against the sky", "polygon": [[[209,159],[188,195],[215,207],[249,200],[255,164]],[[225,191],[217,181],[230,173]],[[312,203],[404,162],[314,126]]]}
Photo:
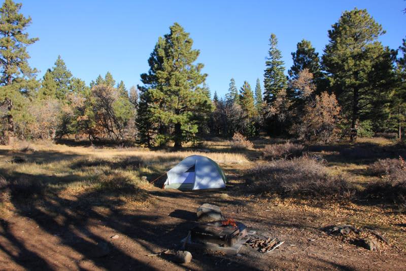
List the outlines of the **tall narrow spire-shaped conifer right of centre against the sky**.
{"label": "tall narrow spire-shaped conifer right of centre against the sky", "polygon": [[266,69],[264,71],[264,101],[270,105],[276,99],[276,94],[287,86],[285,76],[284,62],[282,61],[281,51],[277,48],[278,39],[275,34],[271,34],[269,38],[269,57],[265,62]]}

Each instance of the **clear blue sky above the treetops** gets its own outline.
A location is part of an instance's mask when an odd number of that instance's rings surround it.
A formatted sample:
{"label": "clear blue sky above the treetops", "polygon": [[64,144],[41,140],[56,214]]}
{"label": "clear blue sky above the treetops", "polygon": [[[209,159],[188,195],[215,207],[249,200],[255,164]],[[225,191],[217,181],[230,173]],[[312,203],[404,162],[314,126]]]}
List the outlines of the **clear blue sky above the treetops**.
{"label": "clear blue sky above the treetops", "polygon": [[[19,2],[19,1],[17,1]],[[148,71],[147,59],[159,36],[179,22],[200,50],[207,83],[224,95],[231,77],[252,86],[264,70],[270,33],[279,40],[286,71],[301,39],[321,54],[327,31],[341,13],[367,9],[387,33],[384,45],[397,48],[406,36],[402,0],[369,1],[21,1],[32,18],[29,63],[42,77],[58,54],[74,76],[90,83],[110,71],[129,88]]]}

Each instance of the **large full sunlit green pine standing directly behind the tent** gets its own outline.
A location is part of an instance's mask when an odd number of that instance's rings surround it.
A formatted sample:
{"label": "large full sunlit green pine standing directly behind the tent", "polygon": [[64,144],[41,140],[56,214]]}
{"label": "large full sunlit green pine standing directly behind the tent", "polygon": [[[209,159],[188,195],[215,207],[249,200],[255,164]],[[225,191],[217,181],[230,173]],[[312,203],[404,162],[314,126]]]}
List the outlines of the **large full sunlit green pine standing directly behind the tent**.
{"label": "large full sunlit green pine standing directly behind the tent", "polygon": [[194,64],[199,51],[192,49],[189,33],[178,23],[170,29],[170,34],[158,39],[148,61],[150,70],[141,79],[147,98],[151,98],[148,111],[152,122],[171,128],[159,136],[173,140],[180,148],[182,142],[193,140],[199,115],[210,112],[212,103],[202,88],[207,77],[201,74],[204,65]]}

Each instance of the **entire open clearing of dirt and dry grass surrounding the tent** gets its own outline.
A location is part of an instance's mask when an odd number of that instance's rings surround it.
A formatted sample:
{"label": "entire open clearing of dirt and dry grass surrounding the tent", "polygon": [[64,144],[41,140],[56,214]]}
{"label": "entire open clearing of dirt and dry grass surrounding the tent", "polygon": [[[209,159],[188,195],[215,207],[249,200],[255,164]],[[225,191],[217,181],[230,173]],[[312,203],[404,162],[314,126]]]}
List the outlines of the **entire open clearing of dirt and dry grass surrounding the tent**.
{"label": "entire open clearing of dirt and dry grass surrounding the tent", "polygon": [[[406,215],[389,203],[281,198],[247,192],[246,172],[260,160],[259,146],[231,152],[226,141],[210,142],[210,153],[32,145],[0,149],[0,174],[12,179],[0,209],[0,266],[5,269],[372,269],[401,270],[406,261]],[[378,145],[377,145],[378,146]],[[351,146],[352,147],[352,146]],[[362,145],[357,146],[358,152]],[[379,147],[379,146],[378,146]],[[350,149],[350,148],[349,148]],[[316,150],[315,150],[316,151]],[[221,152],[221,153],[220,153]],[[320,150],[331,169],[355,176],[361,185],[366,164]],[[191,154],[208,156],[224,170],[226,190],[181,192],[142,182],[152,180]],[[10,162],[21,157],[22,163]],[[327,158],[328,159],[328,158]],[[334,160],[335,159],[335,160]],[[236,163],[236,161],[245,161]],[[20,193],[19,195],[13,194]],[[2,194],[4,197],[7,195]],[[194,225],[202,203],[221,206],[227,218],[285,240],[273,252],[239,255],[193,253],[187,264],[169,261]],[[329,225],[373,227],[390,246],[381,254],[320,230]],[[119,238],[111,238],[118,235]]]}

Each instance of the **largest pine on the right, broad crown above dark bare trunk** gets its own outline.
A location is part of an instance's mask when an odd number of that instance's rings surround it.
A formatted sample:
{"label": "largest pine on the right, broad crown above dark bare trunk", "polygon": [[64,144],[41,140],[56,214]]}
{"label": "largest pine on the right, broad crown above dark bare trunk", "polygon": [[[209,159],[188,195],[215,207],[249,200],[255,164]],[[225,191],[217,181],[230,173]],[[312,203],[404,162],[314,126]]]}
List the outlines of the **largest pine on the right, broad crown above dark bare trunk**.
{"label": "largest pine on the right, broad crown above dark bare trunk", "polygon": [[378,37],[385,32],[366,10],[345,11],[328,31],[322,64],[331,88],[351,121],[351,140],[360,121],[387,118],[385,105],[393,84],[393,52]]}

